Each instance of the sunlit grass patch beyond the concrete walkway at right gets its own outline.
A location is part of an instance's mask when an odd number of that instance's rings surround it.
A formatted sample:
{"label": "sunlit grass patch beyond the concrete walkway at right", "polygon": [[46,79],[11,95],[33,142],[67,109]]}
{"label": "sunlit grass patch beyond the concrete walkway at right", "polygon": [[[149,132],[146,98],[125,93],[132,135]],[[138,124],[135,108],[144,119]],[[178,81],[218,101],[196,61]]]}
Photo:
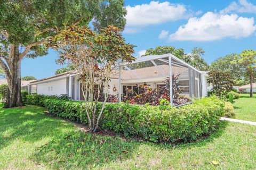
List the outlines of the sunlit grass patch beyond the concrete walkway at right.
{"label": "sunlit grass patch beyond the concrete walkway at right", "polygon": [[249,94],[240,95],[233,105],[235,118],[256,122],[256,95],[253,97],[250,97]]}

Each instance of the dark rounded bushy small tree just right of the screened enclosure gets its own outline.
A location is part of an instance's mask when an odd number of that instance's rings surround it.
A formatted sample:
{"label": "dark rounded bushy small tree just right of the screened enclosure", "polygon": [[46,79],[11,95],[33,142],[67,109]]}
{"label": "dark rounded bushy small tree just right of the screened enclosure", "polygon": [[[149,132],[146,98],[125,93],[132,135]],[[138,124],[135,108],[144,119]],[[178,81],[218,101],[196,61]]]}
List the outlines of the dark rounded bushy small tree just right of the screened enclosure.
{"label": "dark rounded bushy small tree just right of the screened enclosure", "polygon": [[213,84],[213,94],[222,97],[227,96],[227,93],[233,89],[233,78],[228,72],[221,70],[211,70],[209,72],[208,82]]}

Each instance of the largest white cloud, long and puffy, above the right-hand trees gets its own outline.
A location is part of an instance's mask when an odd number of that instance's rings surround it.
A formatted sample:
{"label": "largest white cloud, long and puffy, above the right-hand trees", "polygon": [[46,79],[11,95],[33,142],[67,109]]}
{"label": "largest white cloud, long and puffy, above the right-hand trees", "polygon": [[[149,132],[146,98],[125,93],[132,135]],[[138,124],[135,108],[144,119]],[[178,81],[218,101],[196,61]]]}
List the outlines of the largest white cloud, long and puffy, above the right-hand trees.
{"label": "largest white cloud, long and puffy, above the right-hand trees", "polygon": [[225,37],[241,38],[252,35],[255,29],[254,18],[207,12],[201,18],[190,18],[187,24],[181,25],[169,36],[169,40],[211,41]]}

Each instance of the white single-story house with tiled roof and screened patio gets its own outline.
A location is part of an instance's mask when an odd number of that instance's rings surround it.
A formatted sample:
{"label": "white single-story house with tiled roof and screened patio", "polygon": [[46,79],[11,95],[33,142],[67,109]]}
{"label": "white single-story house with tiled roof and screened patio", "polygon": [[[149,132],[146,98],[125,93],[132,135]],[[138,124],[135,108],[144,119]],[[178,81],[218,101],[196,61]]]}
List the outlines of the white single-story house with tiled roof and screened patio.
{"label": "white single-story house with tiled roof and screened patio", "polygon": [[[122,63],[111,73],[109,94],[121,94],[118,95],[121,100],[121,96],[126,95],[126,89],[139,94],[139,85],[147,84],[153,89],[161,89],[166,78],[172,75],[177,77],[178,81],[170,81],[170,86],[172,87],[172,83],[179,83],[183,95],[189,98],[207,96],[207,73],[198,71],[172,54],[145,56],[132,63]],[[76,71],[31,81],[29,92],[43,95],[67,94],[73,100],[83,100]],[[172,90],[170,92],[172,93]]]}

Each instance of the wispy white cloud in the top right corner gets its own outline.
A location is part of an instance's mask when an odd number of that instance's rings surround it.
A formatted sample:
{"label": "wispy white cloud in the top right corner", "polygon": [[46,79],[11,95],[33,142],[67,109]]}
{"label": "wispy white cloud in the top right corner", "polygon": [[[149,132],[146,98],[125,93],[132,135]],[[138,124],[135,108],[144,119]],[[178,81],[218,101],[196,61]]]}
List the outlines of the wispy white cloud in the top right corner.
{"label": "wispy white cloud in the top right corner", "polygon": [[231,4],[226,7],[224,10],[221,10],[221,14],[227,14],[230,12],[239,12],[239,13],[256,13],[256,5],[246,1],[239,0],[238,3],[231,2]]}

